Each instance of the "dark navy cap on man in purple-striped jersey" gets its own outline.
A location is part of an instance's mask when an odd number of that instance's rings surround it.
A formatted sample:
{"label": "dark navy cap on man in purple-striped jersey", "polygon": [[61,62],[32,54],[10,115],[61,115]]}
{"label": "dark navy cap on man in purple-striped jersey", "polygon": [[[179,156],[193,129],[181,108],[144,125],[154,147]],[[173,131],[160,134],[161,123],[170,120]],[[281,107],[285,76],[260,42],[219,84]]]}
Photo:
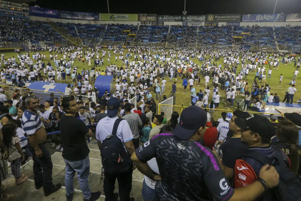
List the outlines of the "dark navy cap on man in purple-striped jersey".
{"label": "dark navy cap on man in purple-striped jersey", "polygon": [[198,106],[185,108],[180,116],[180,122],[173,130],[173,134],[182,140],[188,140],[195,131],[207,123],[205,110]]}

